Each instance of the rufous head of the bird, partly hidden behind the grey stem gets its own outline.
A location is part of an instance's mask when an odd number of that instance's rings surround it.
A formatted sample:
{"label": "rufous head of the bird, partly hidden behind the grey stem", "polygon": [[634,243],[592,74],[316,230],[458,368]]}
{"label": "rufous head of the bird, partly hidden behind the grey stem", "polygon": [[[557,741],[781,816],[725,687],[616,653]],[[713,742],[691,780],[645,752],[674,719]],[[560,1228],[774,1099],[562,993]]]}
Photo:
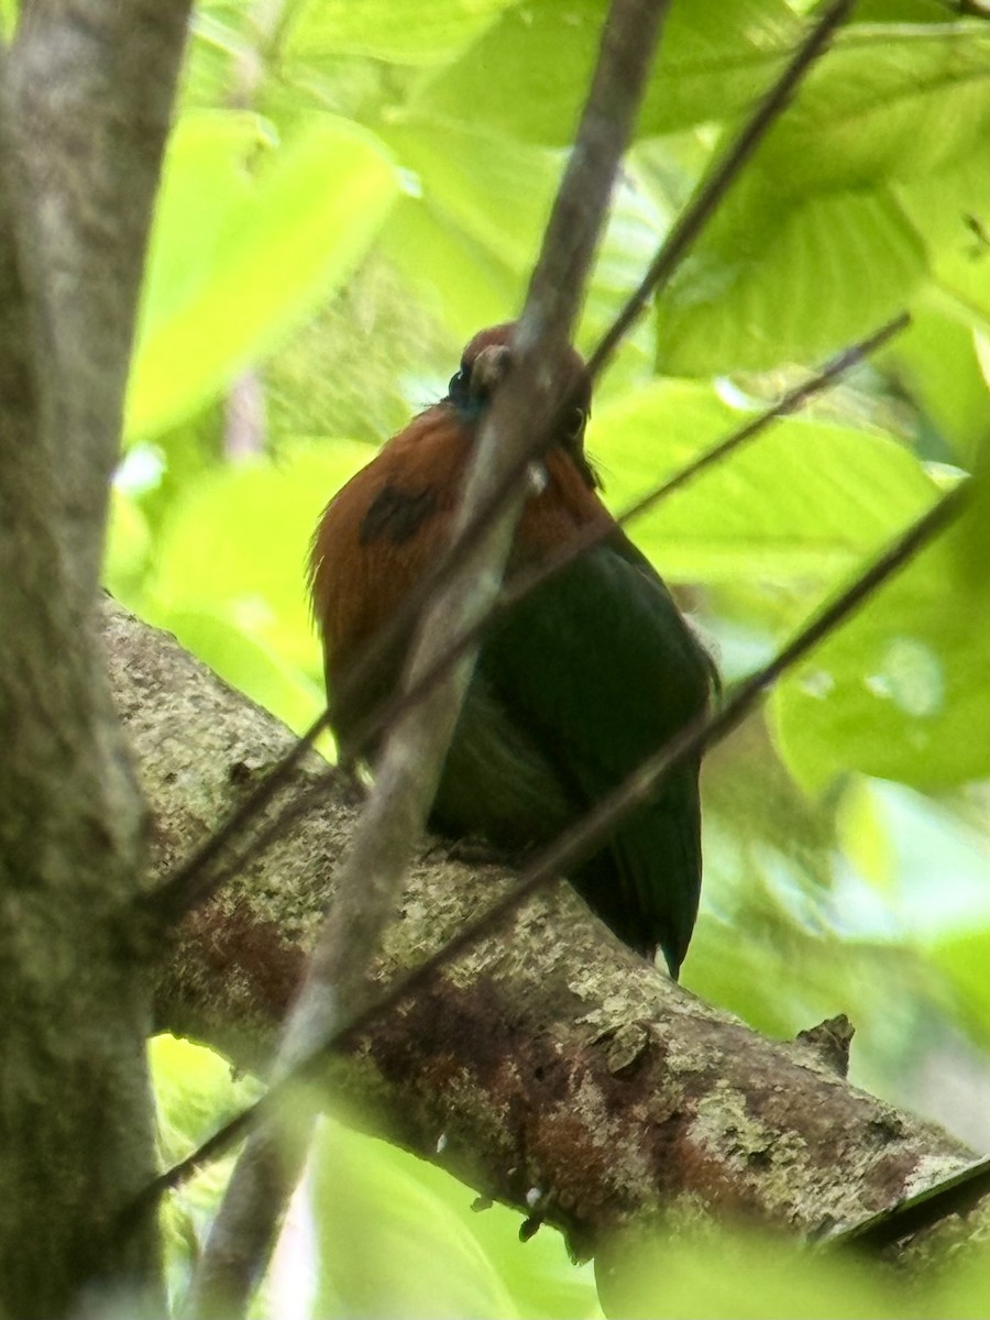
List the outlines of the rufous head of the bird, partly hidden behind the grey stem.
{"label": "rufous head of the bird, partly hidden behind the grey stem", "polygon": [[[515,322],[479,330],[465,348],[458,371],[450,378],[444,400],[471,421],[477,421],[495,391],[512,370],[512,334]],[[591,383],[581,354],[568,350],[564,360],[562,405],[550,444],[570,457],[589,486],[598,486],[598,477],[585,454],[585,425],[591,412]]]}

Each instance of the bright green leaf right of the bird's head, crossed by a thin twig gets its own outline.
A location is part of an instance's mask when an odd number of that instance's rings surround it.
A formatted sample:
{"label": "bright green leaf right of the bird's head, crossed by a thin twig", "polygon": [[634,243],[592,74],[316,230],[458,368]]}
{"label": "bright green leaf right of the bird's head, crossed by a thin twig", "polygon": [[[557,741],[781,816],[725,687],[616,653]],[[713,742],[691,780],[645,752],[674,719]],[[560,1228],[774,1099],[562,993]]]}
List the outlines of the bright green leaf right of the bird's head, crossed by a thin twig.
{"label": "bright green leaf right of the bird's head, crossed by a thin twig", "polygon": [[[620,512],[751,416],[689,381],[599,409],[587,442],[610,506]],[[837,582],[933,495],[888,437],[799,417],[635,519],[630,535],[675,581]]]}

